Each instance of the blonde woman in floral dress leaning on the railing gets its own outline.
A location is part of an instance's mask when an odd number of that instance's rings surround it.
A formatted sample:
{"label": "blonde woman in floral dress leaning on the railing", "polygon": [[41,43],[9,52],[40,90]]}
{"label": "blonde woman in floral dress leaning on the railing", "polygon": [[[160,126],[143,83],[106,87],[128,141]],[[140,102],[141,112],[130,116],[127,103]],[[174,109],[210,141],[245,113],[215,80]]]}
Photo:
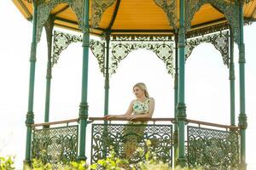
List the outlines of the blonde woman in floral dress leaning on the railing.
{"label": "blonde woman in floral dress leaning on the railing", "polygon": [[[107,119],[125,118],[129,121],[135,121],[137,118],[151,118],[154,113],[154,99],[149,97],[146,85],[143,82],[138,82],[133,86],[133,93],[137,99],[131,101],[124,115],[108,115],[105,117]],[[143,139],[146,124],[147,122],[129,122],[129,125],[124,127],[122,142],[126,159],[132,161],[138,143]]]}

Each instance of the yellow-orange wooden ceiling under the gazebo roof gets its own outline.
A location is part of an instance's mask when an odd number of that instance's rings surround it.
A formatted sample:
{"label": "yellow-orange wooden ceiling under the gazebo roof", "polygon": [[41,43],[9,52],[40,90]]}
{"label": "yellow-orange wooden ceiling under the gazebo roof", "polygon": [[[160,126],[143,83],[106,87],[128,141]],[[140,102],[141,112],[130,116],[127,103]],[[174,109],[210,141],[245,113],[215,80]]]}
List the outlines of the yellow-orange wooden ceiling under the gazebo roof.
{"label": "yellow-orange wooden ceiling under the gazebo roof", "polygon": [[[20,13],[26,20],[32,20],[32,4],[26,0],[12,0],[15,6],[20,10]],[[91,4],[91,2],[90,2]],[[99,24],[99,29],[91,29],[92,33],[101,34],[102,30],[108,29],[111,20],[113,19],[114,9],[117,3],[113,3],[102,15],[102,20]],[[178,6],[178,4],[177,4]],[[178,7],[177,7],[178,8]],[[244,17],[247,19],[256,19],[256,0],[253,0],[244,6]],[[51,14],[55,14],[55,26],[61,26],[68,29],[78,30],[78,20],[73,10],[66,3],[61,3],[56,6]],[[91,15],[91,14],[90,14]],[[224,14],[213,8],[210,4],[203,5],[195,14],[191,26],[196,29],[196,26],[207,26],[225,22]],[[121,0],[113,26],[110,28],[113,31],[134,31],[134,30],[166,30],[170,32],[172,26],[169,25],[165,12],[158,7],[153,0]],[[162,32],[165,33],[165,32]]]}

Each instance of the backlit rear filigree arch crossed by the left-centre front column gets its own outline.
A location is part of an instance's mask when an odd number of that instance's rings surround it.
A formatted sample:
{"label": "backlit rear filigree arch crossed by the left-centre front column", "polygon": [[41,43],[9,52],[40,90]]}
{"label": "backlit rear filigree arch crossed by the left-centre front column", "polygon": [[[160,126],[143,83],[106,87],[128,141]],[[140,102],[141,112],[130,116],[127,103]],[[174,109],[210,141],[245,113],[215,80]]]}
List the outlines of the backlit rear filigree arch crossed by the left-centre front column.
{"label": "backlit rear filigree arch crossed by the left-centre front column", "polygon": [[[52,66],[57,64],[61,52],[73,42],[83,42],[83,37],[67,34],[61,31],[54,32],[54,47],[52,56]],[[90,39],[90,50],[96,57],[100,70],[104,74],[104,54],[105,54],[105,42],[96,41]]]}

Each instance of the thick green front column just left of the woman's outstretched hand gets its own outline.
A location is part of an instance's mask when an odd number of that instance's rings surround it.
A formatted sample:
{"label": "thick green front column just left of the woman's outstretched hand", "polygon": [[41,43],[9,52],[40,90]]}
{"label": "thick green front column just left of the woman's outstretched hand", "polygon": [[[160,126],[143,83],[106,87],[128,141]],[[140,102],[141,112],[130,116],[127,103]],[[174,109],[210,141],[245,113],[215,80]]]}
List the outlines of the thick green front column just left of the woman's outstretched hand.
{"label": "thick green front column just left of the woman's outstretched hand", "polygon": [[79,105],[79,156],[78,160],[86,160],[85,137],[88,118],[88,61],[90,47],[90,27],[89,27],[89,0],[84,0],[84,23],[83,23],[83,73],[82,73],[82,94]]}

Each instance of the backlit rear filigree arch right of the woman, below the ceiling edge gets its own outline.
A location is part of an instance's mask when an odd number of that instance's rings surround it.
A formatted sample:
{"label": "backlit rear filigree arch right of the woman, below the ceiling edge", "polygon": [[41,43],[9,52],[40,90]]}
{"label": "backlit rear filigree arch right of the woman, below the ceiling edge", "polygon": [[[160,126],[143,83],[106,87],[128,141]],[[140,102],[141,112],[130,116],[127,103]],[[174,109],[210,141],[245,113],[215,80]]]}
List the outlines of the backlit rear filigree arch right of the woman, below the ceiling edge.
{"label": "backlit rear filigree arch right of the woman, below the ceiling edge", "polygon": [[189,55],[192,53],[193,49],[201,44],[202,42],[210,42],[212,45],[220,52],[223,58],[224,65],[230,66],[230,56],[229,56],[229,31],[218,32],[212,35],[207,35],[203,37],[196,37],[189,39],[186,42],[185,47],[185,58],[188,59]]}

